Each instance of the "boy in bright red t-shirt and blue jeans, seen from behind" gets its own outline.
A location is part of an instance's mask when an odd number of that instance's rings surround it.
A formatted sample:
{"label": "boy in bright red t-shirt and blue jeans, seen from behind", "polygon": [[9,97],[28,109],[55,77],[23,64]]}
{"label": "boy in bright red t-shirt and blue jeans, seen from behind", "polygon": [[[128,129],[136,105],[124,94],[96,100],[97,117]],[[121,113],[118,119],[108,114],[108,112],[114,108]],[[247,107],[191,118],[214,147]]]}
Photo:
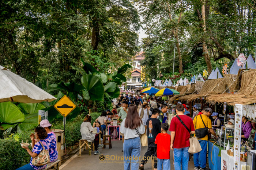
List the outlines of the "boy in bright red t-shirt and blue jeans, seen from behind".
{"label": "boy in bright red t-shirt and blue jeans, seen from behind", "polygon": [[167,134],[169,125],[167,123],[161,124],[161,133],[155,138],[155,144],[157,144],[157,169],[165,170],[171,169],[170,163],[170,141],[171,135]]}

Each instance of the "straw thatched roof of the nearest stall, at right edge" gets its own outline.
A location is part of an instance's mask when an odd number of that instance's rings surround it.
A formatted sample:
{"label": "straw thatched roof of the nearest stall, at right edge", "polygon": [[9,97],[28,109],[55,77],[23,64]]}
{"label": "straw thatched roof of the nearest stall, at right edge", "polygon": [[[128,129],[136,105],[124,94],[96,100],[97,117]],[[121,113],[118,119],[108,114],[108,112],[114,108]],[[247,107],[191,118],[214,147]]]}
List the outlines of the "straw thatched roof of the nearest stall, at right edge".
{"label": "straw thatched roof of the nearest stall, at right edge", "polygon": [[[239,74],[239,73],[238,73]],[[239,104],[256,103],[256,69],[244,71],[241,74],[241,88],[236,94],[226,93],[221,95],[207,96],[207,102],[221,103],[234,106]]]}

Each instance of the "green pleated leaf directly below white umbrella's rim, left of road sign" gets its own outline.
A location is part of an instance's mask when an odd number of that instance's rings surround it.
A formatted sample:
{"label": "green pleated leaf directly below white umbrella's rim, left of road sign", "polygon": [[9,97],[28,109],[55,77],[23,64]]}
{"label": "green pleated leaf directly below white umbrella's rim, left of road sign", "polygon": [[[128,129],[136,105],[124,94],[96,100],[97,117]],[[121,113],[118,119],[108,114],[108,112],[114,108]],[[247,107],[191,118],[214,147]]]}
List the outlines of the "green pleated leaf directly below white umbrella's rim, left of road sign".
{"label": "green pleated leaf directly below white umbrella's rim, left of road sign", "polygon": [[26,114],[38,114],[38,110],[45,108],[44,105],[40,103],[19,103],[18,107],[23,113]]}

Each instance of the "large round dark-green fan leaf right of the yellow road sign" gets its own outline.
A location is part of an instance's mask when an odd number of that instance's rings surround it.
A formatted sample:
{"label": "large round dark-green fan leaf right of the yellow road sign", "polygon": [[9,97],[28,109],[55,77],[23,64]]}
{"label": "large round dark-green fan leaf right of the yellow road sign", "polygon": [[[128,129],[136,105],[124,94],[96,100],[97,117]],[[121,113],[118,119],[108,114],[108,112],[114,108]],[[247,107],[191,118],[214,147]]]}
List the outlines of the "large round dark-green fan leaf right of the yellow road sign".
{"label": "large round dark-green fan leaf right of the yellow road sign", "polygon": [[84,99],[103,101],[104,86],[98,76],[85,74],[81,82],[86,89],[83,91]]}

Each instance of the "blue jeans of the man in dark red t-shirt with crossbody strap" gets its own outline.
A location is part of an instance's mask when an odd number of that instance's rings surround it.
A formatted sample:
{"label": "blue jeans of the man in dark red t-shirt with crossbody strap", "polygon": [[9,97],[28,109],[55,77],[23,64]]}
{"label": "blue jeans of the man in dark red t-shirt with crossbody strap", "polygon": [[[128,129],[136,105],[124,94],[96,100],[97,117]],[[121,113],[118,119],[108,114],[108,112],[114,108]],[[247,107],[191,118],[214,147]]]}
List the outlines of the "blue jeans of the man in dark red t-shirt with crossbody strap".
{"label": "blue jeans of the man in dark red t-shirt with crossbody strap", "polygon": [[[188,170],[188,159],[189,159],[189,153],[188,153],[189,147],[182,147],[182,148],[174,148],[173,154],[174,157],[174,169],[175,170]],[[181,167],[180,167],[181,163]]]}

